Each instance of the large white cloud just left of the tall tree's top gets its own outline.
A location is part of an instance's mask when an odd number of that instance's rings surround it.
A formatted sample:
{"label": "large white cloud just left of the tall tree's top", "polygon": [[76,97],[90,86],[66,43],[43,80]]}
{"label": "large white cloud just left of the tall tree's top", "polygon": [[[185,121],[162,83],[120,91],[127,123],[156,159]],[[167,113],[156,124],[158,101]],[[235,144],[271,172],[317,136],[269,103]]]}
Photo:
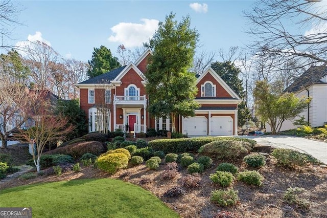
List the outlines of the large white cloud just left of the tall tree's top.
{"label": "large white cloud just left of the tall tree's top", "polygon": [[159,21],[156,19],[141,19],[143,24],[119,23],[111,27],[113,34],[108,38],[111,42],[120,42],[125,47],[142,46],[158,28]]}

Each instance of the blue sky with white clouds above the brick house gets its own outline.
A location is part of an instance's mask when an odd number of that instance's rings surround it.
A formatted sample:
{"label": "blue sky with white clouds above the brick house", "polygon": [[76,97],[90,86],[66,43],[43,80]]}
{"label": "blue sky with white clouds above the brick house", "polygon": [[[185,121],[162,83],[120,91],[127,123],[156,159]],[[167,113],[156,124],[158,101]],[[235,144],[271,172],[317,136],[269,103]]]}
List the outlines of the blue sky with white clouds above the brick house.
{"label": "blue sky with white clouds above the brick house", "polygon": [[[158,21],[171,11],[176,19],[190,15],[200,33],[201,49],[228,50],[249,42],[243,10],[253,1],[15,1],[24,25],[13,32],[13,43],[43,40],[63,57],[87,61],[101,45],[115,53],[124,44],[133,50],[149,38]],[[197,3],[197,4],[195,4]],[[193,5],[191,5],[193,4]],[[191,7],[192,6],[192,7]],[[109,40],[110,38],[110,40]]]}

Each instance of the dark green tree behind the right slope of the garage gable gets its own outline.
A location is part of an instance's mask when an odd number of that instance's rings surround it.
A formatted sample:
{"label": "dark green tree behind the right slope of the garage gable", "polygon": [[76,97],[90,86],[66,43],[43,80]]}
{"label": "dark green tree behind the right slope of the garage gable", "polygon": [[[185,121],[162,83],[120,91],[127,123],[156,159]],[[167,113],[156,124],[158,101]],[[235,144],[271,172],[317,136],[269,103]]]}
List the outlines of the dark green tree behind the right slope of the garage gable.
{"label": "dark green tree behind the right slope of the garage gable", "polygon": [[[239,78],[241,70],[235,66],[231,61],[219,62],[216,61],[211,64],[212,69],[226,82],[240,98],[244,99],[245,92],[242,86],[242,80]],[[243,100],[238,106],[238,125],[242,126],[247,119],[251,118],[246,102]]]}

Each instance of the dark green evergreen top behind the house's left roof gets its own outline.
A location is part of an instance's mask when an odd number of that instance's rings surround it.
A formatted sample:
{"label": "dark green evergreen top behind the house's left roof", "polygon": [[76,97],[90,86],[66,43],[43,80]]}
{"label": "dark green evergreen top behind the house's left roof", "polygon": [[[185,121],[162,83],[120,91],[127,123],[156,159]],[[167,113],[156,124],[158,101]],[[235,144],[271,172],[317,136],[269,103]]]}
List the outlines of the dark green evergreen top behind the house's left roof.
{"label": "dark green evergreen top behind the house's left roof", "polygon": [[117,57],[112,56],[110,49],[105,46],[94,48],[91,60],[88,61],[90,66],[87,71],[89,78],[107,73],[113,69],[121,67]]}

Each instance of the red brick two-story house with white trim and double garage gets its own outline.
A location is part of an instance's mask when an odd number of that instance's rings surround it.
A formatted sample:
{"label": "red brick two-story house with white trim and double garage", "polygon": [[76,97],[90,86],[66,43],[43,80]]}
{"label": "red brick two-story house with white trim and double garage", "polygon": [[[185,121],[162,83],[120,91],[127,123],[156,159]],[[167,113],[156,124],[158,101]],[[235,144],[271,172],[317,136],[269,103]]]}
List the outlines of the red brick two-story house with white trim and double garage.
{"label": "red brick two-story house with white trim and double garage", "polygon": [[[169,117],[153,118],[147,111],[145,91],[147,50],[134,63],[76,84],[80,106],[88,116],[89,132],[115,129],[129,133],[147,132],[149,128],[170,130]],[[188,135],[237,135],[239,96],[208,68],[197,75],[196,101],[201,107],[195,117],[178,116],[176,130]]]}

